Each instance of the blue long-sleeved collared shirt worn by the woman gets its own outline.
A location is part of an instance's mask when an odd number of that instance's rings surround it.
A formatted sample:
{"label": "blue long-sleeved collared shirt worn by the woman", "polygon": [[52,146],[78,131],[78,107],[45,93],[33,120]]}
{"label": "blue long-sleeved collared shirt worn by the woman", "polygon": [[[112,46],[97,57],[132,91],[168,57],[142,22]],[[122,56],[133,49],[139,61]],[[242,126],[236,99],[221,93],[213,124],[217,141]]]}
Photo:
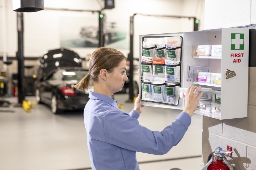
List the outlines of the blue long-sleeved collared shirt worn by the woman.
{"label": "blue long-sleeved collared shirt worn by the woman", "polygon": [[139,114],[120,111],[117,101],[96,93],[84,109],[87,145],[93,170],[139,170],[136,152],[167,153],[184,136],[191,123],[182,112],[163,131],[151,131],[139,124]]}

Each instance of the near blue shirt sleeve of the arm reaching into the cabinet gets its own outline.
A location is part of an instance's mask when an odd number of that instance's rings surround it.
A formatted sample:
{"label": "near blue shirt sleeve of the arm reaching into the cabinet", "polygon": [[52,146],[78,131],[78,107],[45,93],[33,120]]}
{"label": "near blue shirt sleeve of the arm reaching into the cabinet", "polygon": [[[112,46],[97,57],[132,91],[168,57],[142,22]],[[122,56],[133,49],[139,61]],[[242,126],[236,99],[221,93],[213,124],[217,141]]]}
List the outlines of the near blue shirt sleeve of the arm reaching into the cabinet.
{"label": "near blue shirt sleeve of the arm reaching into the cabinet", "polygon": [[131,151],[162,155],[180,142],[190,123],[190,116],[182,112],[161,132],[151,131],[130,115],[111,111],[104,116],[104,133],[106,142],[112,145]]}

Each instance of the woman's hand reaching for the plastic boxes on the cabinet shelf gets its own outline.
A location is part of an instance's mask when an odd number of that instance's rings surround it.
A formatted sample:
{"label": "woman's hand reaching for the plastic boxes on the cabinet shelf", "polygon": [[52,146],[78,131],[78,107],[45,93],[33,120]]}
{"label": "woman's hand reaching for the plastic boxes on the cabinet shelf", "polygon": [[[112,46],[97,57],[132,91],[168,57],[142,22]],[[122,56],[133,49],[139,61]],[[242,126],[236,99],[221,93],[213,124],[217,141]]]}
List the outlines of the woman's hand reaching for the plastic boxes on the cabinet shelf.
{"label": "woman's hand reaching for the plastic boxes on the cabinet shelf", "polygon": [[185,97],[185,108],[184,108],[183,112],[187,113],[190,117],[192,117],[193,114],[195,113],[198,103],[199,103],[199,99],[203,95],[203,91],[201,91],[200,94],[197,95],[197,92],[200,88],[201,88],[200,86],[199,87],[197,87],[197,86],[188,87],[187,94]]}

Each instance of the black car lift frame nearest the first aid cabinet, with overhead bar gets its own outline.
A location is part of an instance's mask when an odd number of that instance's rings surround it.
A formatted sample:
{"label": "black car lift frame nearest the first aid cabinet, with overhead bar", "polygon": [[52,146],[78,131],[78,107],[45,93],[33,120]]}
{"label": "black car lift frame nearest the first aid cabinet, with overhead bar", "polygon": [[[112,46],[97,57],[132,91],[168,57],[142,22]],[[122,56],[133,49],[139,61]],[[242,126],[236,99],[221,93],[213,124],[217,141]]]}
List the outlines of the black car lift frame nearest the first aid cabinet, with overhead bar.
{"label": "black car lift frame nearest the first aid cabinet, with overhead bar", "polygon": [[129,99],[128,102],[132,102],[134,94],[133,94],[133,32],[134,32],[134,16],[143,15],[143,16],[153,16],[153,17],[170,17],[170,18],[188,18],[194,19],[194,31],[198,31],[198,24],[196,23],[196,17],[188,17],[188,16],[174,16],[174,15],[151,15],[151,14],[133,14],[130,17],[130,53],[128,54],[128,61],[130,62],[129,69]]}

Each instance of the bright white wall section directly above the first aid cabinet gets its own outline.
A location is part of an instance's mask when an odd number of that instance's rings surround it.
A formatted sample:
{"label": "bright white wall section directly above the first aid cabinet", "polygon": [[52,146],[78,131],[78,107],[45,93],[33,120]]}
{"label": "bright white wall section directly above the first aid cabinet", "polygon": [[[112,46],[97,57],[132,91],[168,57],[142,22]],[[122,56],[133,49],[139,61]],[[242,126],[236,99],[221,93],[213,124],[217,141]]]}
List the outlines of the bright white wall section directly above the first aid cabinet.
{"label": "bright white wall section directly above the first aid cabinet", "polygon": [[205,0],[205,29],[256,23],[255,0]]}

